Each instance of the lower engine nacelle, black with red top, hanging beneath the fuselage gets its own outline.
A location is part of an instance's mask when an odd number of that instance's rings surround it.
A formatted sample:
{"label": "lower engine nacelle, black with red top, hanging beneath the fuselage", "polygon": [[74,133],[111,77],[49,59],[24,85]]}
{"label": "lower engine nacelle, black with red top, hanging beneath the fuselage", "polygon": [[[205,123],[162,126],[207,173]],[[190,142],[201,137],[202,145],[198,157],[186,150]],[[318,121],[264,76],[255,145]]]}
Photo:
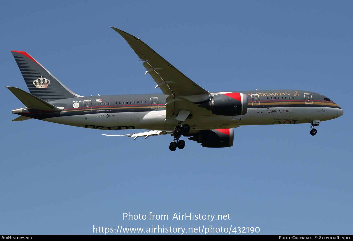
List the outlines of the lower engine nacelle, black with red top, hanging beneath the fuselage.
{"label": "lower engine nacelle, black with red top, hanging beneath the fuselage", "polygon": [[189,140],[201,143],[202,147],[231,147],[233,146],[234,130],[217,129],[217,130],[199,130],[195,136],[188,138]]}

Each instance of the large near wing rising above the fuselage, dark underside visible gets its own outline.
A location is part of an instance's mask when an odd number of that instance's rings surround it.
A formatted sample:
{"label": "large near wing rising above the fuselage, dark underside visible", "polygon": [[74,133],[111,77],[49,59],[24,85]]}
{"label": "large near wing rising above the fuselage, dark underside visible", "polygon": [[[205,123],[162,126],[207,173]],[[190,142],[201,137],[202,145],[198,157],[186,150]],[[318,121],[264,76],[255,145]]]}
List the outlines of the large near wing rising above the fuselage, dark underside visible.
{"label": "large near wing rising above the fuselage, dark underside visible", "polygon": [[[178,115],[183,110],[190,111],[194,116],[210,114],[209,111],[195,104],[207,100],[210,96],[207,90],[187,78],[139,38],[116,27],[112,27],[112,29],[118,32],[137,56],[144,61],[145,74],[149,73],[156,81],[156,88],[160,87],[166,95],[166,118]],[[195,95],[201,96],[195,97]]]}

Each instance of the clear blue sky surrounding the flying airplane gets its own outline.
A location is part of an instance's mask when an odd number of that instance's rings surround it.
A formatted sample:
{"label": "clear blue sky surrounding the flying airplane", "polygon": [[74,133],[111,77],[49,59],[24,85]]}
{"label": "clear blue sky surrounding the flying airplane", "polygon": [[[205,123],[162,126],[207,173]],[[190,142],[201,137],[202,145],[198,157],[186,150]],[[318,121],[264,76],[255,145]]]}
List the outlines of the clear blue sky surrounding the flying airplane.
{"label": "clear blue sky surrounding the flying airplane", "polygon": [[[2,1],[0,233],[92,234],[95,227],[259,227],[259,234],[352,234],[352,1]],[[243,126],[234,146],[171,136],[105,137],[10,122],[28,91],[26,51],[80,95],[160,93],[125,40],[139,37],[209,91],[303,89],[344,110],[310,124]],[[123,213],[168,221],[123,220]],[[231,220],[172,220],[174,213]]]}

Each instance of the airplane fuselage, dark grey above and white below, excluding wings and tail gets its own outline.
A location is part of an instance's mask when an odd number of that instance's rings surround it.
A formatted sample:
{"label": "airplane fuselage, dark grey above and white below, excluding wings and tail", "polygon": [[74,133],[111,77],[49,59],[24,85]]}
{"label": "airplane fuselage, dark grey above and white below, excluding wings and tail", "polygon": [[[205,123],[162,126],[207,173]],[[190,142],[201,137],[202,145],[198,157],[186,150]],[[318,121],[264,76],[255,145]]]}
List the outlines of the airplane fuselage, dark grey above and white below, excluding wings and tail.
{"label": "airplane fuselage, dark grey above and white below, excluding wings and tail", "polygon": [[[211,95],[230,92],[211,92]],[[242,125],[299,124],[327,121],[342,115],[342,109],[327,97],[309,91],[238,91],[247,96],[247,112],[240,116],[214,115],[205,110],[190,116],[184,124],[191,130],[226,129]],[[100,130],[173,130],[174,118],[166,119],[164,94],[99,95],[49,101],[61,111],[40,111],[26,107],[14,113],[65,125]],[[197,104],[195,104],[197,106]],[[20,110],[20,111],[19,111]],[[187,111],[187,109],[186,109]],[[21,113],[20,113],[21,112]]]}

